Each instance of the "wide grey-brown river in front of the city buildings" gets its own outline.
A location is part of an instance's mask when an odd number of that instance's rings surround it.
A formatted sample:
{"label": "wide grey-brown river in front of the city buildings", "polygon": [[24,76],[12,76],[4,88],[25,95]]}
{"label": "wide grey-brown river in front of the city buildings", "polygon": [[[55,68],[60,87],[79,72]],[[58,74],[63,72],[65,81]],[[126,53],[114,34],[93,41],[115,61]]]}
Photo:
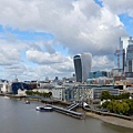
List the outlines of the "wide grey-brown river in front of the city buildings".
{"label": "wide grey-brown river in front of the city buildings", "polygon": [[0,96],[0,133],[133,133],[89,116],[78,120],[58,112],[37,112],[40,104]]}

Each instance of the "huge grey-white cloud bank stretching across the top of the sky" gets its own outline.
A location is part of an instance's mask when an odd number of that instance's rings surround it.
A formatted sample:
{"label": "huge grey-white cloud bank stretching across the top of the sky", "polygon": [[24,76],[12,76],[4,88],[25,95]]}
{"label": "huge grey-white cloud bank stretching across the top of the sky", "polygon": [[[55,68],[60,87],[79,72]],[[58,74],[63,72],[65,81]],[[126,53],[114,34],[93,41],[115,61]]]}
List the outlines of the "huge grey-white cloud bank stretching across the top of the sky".
{"label": "huge grey-white cloud bank stretching across the top of the sky", "polygon": [[[114,41],[125,34],[119,17],[93,0],[4,0],[0,9],[1,24],[51,32],[73,54],[82,51],[99,54],[109,38],[108,45],[113,51]],[[109,47],[105,50],[112,52]]]}

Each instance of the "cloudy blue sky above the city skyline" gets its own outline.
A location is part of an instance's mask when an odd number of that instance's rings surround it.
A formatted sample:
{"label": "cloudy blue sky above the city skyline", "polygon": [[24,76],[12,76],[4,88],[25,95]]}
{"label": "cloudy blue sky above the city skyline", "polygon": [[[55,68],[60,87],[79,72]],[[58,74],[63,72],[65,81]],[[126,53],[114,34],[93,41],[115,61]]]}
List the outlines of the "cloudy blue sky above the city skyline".
{"label": "cloudy blue sky above the city skyline", "polygon": [[119,38],[133,37],[133,0],[0,0],[0,79],[70,78],[73,57],[111,71]]}

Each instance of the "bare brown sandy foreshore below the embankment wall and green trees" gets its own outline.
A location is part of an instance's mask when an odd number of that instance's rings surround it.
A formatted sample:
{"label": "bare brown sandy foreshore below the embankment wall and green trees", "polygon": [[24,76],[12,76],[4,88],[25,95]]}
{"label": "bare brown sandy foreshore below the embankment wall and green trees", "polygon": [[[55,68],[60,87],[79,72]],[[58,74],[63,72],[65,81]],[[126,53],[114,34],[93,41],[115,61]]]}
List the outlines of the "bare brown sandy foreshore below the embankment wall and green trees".
{"label": "bare brown sandy foreshore below the embankment wall and green trees", "polygon": [[124,120],[124,119],[120,119],[120,117],[115,117],[115,116],[99,115],[99,114],[95,114],[92,112],[85,112],[85,115],[92,116],[95,119],[100,119],[100,120],[102,120],[106,123],[110,123],[110,124],[133,129],[133,122],[129,121],[129,120]]}

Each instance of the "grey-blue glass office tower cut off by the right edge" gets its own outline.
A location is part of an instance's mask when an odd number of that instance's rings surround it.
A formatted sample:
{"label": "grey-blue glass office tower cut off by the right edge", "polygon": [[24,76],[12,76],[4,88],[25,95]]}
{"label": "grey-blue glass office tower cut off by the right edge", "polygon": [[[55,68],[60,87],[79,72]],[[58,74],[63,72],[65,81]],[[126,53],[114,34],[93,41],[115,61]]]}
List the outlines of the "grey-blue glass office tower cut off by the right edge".
{"label": "grey-blue glass office tower cut off by the right edge", "polygon": [[126,49],[126,72],[133,72],[133,40],[129,40]]}

